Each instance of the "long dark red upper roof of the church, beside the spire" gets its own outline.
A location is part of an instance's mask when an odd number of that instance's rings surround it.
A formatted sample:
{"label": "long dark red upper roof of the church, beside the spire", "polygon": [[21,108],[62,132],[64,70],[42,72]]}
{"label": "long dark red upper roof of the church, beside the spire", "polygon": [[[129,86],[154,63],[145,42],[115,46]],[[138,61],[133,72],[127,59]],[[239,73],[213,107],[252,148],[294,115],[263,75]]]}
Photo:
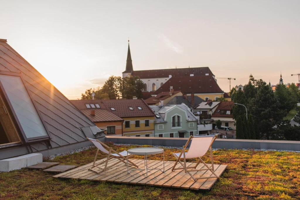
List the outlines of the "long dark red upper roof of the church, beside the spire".
{"label": "long dark red upper roof of the church, beside the spire", "polygon": [[208,67],[191,67],[191,68],[178,68],[178,69],[162,69],[162,70],[140,70],[133,71],[132,76],[139,76],[140,79],[149,79],[149,78],[163,78],[177,76],[190,76],[193,74],[194,76],[214,76],[211,70]]}

